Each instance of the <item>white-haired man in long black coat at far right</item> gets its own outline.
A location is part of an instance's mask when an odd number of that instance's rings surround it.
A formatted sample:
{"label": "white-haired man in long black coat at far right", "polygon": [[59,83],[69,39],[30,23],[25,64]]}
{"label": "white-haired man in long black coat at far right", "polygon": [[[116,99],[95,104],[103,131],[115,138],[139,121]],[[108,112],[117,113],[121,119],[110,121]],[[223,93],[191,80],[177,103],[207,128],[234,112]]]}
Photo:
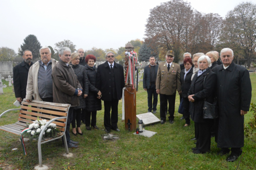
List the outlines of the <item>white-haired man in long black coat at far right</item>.
{"label": "white-haired man in long black coat at far right", "polygon": [[249,111],[252,84],[247,69],[233,62],[230,48],[221,50],[222,65],[212,69],[217,74],[217,100],[219,106],[218,135],[215,137],[221,148],[219,154],[230,152],[228,162],[234,162],[244,146],[244,115]]}

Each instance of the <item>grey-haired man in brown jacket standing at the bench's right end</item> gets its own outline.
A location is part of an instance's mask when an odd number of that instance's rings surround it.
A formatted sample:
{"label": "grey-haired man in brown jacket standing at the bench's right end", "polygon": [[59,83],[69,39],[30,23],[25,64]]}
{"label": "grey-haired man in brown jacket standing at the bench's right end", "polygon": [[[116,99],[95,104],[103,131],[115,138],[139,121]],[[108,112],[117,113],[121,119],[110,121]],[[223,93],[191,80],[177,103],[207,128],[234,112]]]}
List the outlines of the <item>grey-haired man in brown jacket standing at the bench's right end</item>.
{"label": "grey-haired man in brown jacket standing at the bench's right end", "polygon": [[[74,70],[69,62],[71,60],[71,50],[68,47],[62,47],[59,49],[59,62],[52,70],[53,78],[53,102],[71,104],[68,113],[67,127],[66,127],[66,139],[69,148],[77,148],[79,142],[70,140],[69,128],[70,122],[73,119],[73,109],[75,106],[79,106],[79,96],[82,95],[82,87],[77,80]],[[62,137],[62,146],[64,140]]]}

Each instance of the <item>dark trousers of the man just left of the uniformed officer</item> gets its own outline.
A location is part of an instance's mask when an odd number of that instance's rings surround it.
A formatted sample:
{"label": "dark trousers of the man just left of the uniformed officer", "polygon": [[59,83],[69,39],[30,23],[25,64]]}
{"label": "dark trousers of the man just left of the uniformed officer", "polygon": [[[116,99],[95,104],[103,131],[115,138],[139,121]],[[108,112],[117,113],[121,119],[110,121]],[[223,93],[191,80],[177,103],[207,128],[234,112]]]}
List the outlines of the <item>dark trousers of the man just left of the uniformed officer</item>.
{"label": "dark trousers of the man just left of the uniformed officer", "polygon": [[[152,108],[152,97],[153,97],[153,108]],[[147,110],[149,112],[151,112],[152,109],[153,111],[156,111],[157,101],[158,101],[158,94],[156,93],[156,86],[155,84],[151,84],[150,88],[147,89],[147,107],[148,107]]]}

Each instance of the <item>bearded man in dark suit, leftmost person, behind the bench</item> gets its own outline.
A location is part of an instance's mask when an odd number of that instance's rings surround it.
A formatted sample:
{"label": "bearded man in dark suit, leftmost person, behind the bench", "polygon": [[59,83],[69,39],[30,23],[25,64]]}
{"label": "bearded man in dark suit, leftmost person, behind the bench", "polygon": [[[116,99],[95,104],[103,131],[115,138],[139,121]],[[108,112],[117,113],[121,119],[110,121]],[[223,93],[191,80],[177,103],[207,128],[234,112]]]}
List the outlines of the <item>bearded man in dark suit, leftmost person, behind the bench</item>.
{"label": "bearded man in dark suit, leftmost person, behind the bench", "polygon": [[28,71],[32,66],[32,52],[30,50],[25,50],[23,52],[24,61],[19,63],[13,68],[13,86],[16,100],[20,103],[24,98],[26,98],[26,88],[28,80]]}

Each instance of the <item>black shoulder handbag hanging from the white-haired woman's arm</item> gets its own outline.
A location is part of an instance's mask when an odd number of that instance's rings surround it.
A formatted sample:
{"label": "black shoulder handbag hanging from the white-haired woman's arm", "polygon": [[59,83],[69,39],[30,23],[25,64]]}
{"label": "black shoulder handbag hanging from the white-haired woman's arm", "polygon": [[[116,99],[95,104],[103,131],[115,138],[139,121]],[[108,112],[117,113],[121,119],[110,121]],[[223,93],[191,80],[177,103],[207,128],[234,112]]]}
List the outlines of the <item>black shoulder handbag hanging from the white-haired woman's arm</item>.
{"label": "black shoulder handbag hanging from the white-haired woman's arm", "polygon": [[[203,86],[204,86],[206,76],[204,77],[204,80],[203,80]],[[217,99],[214,98],[213,104],[207,102],[204,99],[204,102],[203,102],[203,119],[215,119],[215,118],[218,118],[218,117],[219,117],[219,115],[218,115]]]}

